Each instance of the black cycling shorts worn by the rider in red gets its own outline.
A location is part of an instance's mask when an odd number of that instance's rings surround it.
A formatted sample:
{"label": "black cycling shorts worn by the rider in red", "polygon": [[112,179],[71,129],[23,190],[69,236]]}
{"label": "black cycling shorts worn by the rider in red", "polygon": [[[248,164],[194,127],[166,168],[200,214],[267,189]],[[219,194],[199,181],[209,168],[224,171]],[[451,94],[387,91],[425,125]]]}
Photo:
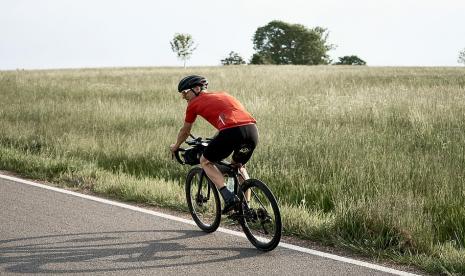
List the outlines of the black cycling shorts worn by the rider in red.
{"label": "black cycling shorts worn by the rider in red", "polygon": [[255,124],[221,130],[210,141],[203,156],[211,162],[218,162],[231,153],[235,163],[245,164],[252,157],[258,143],[258,129]]}

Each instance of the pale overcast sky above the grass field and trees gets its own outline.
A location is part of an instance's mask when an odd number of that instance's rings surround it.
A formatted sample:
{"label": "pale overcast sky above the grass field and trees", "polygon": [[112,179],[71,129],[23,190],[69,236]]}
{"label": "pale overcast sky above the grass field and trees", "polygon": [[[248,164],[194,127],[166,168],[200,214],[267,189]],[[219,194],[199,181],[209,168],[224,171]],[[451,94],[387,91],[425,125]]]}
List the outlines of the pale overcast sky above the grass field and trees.
{"label": "pale overcast sky above the grass field and trees", "polygon": [[0,0],[0,70],[182,66],[175,33],[198,44],[189,66],[246,60],[271,20],[329,30],[333,60],[373,66],[458,66],[465,0]]}

